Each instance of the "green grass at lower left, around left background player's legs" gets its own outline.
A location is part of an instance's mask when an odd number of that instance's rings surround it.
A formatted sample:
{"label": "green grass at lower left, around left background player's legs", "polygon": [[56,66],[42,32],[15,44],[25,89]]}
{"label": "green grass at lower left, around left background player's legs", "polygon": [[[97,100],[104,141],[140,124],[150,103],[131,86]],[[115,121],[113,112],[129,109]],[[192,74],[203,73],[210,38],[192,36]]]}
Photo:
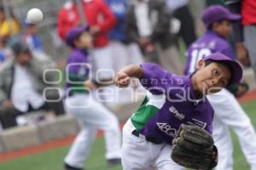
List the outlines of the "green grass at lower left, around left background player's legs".
{"label": "green grass at lower left, around left background player's legs", "polygon": [[[24,156],[12,161],[0,163],[1,170],[61,170],[63,158],[67,155],[69,146],[61,147],[56,150],[46,150],[44,152]],[[104,158],[105,148],[104,139],[96,139],[93,144],[90,156],[84,167],[90,170],[119,170],[120,166],[108,167]]]}

